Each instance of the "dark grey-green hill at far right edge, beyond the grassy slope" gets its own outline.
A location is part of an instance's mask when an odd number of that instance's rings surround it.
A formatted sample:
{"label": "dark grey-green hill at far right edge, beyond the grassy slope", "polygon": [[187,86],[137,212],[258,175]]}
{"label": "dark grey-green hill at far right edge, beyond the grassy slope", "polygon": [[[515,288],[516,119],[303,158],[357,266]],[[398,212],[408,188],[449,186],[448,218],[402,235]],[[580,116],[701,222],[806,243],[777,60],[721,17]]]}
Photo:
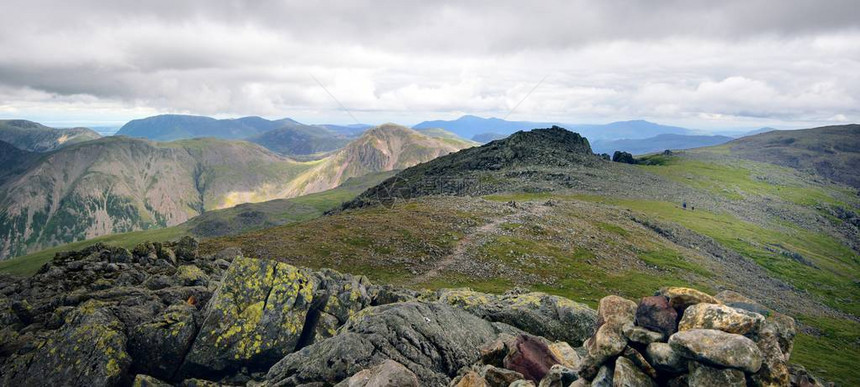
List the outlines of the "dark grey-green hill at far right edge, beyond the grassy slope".
{"label": "dark grey-green hill at far right edge, beyond the grassy slope", "polygon": [[860,188],[860,125],[770,131],[734,140],[731,154],[812,172]]}

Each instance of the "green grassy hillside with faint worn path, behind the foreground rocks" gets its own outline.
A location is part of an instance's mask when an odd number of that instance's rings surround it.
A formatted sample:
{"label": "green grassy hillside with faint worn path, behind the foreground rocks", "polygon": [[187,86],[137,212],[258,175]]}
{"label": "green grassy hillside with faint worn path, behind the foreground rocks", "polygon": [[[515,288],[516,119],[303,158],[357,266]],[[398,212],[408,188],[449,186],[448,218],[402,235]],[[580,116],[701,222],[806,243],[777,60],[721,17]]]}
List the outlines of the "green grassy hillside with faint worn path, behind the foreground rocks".
{"label": "green grassy hillside with faint worn path, behind the foreground rocks", "polygon": [[[569,140],[569,163],[557,159],[563,149],[543,150],[546,162],[505,161],[540,139],[491,143],[380,186],[401,189],[369,191],[405,193],[397,200],[374,203],[378,195],[365,193],[354,209],[214,238],[203,248],[236,246],[414,287],[524,286],[592,305],[607,292],[636,298],[665,284],[731,289],[800,321],[792,361],[846,385],[860,382],[855,188],[722,148],[629,165]],[[487,153],[491,147],[502,154]],[[411,186],[426,181],[421,176],[465,176],[464,184],[477,186],[445,192],[472,196],[438,196]]]}

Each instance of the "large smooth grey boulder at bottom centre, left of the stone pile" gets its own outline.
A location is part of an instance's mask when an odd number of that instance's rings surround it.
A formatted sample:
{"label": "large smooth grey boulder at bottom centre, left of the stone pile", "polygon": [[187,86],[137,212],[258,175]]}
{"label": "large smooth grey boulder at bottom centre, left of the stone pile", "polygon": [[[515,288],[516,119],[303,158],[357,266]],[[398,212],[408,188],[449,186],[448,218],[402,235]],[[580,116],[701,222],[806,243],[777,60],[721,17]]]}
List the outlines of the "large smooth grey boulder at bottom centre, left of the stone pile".
{"label": "large smooth grey boulder at bottom centre, left of the stone pile", "polygon": [[386,359],[403,364],[427,385],[445,385],[481,356],[503,324],[441,303],[402,302],[354,315],[338,335],[291,353],[266,375],[270,385],[337,383]]}

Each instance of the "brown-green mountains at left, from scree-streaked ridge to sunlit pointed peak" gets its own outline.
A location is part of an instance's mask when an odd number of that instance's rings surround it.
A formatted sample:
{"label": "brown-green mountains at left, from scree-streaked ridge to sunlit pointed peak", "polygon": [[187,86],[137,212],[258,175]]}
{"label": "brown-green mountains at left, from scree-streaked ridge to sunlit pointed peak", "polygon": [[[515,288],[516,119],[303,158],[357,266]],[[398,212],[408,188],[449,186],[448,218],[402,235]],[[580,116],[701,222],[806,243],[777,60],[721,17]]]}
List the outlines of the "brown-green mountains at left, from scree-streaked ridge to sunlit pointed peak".
{"label": "brown-green mountains at left, from scree-streaked ridge to sunlit pointed peak", "polygon": [[0,259],[175,225],[212,209],[320,192],[350,177],[406,168],[472,145],[389,124],[311,162],[214,138],[105,137],[32,160],[16,151],[29,161],[0,174]]}

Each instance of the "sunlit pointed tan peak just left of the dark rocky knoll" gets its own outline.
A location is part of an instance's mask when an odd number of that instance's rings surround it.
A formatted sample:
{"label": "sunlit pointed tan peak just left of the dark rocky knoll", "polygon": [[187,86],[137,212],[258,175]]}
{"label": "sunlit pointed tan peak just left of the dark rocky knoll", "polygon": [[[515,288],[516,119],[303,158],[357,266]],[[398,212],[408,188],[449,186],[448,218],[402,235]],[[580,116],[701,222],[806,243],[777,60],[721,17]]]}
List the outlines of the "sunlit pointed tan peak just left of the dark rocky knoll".
{"label": "sunlit pointed tan peak just left of the dark rocky knoll", "polygon": [[381,125],[302,174],[290,196],[331,189],[350,177],[371,172],[408,168],[473,145],[462,139],[430,137],[395,124]]}

